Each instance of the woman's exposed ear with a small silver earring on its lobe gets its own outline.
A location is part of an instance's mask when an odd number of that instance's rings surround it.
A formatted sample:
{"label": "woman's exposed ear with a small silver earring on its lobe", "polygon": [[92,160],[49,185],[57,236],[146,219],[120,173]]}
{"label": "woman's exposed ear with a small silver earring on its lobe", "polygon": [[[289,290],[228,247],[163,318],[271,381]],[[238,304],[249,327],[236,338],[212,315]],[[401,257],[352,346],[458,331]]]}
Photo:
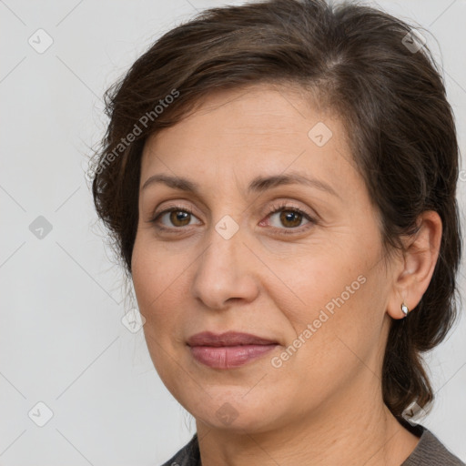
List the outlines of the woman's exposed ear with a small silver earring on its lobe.
{"label": "woman's exposed ear with a small silver earring on its lobe", "polygon": [[418,218],[419,231],[403,239],[405,250],[393,268],[393,289],[387,312],[393,319],[402,319],[401,304],[414,309],[431,283],[441,247],[441,218],[427,210]]}

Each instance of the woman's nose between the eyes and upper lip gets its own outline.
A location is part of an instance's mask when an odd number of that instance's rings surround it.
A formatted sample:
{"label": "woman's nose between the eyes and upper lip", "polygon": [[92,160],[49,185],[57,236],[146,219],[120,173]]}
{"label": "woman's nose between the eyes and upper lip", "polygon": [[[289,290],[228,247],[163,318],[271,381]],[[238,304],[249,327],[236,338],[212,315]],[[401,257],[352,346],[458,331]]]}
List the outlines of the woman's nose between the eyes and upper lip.
{"label": "woman's nose between the eyes and upper lip", "polygon": [[193,296],[209,309],[227,309],[234,301],[252,302],[259,292],[254,259],[240,230],[226,239],[212,228],[208,247],[195,263]]}

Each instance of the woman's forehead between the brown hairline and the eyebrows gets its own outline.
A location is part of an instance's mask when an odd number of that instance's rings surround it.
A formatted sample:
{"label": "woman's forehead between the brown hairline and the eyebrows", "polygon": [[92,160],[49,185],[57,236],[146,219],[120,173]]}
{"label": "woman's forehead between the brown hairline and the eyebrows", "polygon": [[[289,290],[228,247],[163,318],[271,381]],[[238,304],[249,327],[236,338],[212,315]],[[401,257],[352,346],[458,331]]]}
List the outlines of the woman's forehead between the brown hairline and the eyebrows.
{"label": "woman's forehead between the brown hairline and the eyebrows", "polygon": [[287,169],[345,177],[352,158],[339,118],[302,89],[269,85],[213,93],[147,139],[141,185],[157,172],[254,177]]}

